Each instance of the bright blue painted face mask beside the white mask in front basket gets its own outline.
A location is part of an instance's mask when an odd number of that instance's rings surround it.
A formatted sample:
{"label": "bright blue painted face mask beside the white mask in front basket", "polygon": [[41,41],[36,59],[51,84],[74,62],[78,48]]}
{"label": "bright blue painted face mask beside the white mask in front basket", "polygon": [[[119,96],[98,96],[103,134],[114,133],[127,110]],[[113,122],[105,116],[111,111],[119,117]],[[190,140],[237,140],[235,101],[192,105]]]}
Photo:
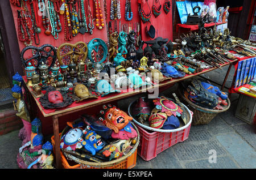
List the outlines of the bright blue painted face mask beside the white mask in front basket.
{"label": "bright blue painted face mask beside the white mask in front basket", "polygon": [[96,152],[100,151],[106,145],[105,142],[101,140],[101,136],[96,134],[90,126],[87,126],[83,131],[83,138],[79,138],[81,145],[92,155],[95,155]]}

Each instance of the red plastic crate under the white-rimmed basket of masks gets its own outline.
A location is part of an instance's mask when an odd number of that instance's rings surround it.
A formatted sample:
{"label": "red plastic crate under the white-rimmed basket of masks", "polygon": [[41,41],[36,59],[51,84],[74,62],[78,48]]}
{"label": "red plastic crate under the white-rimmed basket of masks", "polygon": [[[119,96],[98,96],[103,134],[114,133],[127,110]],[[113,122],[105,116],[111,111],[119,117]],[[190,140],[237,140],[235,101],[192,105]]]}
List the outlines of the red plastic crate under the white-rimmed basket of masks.
{"label": "red plastic crate under the white-rimmed basket of masks", "polygon": [[137,124],[135,126],[140,135],[137,153],[143,160],[149,161],[172,145],[188,139],[191,123],[188,127],[176,132],[148,132],[149,130]]}

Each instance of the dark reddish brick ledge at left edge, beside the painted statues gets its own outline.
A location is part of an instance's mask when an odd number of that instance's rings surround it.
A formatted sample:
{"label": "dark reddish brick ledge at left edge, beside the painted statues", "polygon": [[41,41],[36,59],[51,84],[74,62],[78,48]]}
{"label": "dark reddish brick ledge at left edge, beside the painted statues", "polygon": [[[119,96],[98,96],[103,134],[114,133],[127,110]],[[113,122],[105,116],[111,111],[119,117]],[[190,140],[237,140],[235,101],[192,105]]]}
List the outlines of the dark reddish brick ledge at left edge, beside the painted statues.
{"label": "dark reddish brick ledge at left edge, beside the painted statues", "polygon": [[19,130],[23,127],[22,120],[15,114],[16,111],[13,109],[0,112],[0,135]]}

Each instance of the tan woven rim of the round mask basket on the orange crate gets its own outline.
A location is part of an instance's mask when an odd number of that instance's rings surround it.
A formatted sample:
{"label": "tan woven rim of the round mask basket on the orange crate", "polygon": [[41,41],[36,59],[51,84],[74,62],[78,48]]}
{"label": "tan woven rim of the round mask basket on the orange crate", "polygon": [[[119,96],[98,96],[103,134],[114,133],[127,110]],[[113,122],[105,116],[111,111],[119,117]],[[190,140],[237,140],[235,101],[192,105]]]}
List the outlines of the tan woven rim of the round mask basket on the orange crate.
{"label": "tan woven rim of the round mask basket on the orange crate", "polygon": [[[73,160],[75,162],[77,162],[78,164],[80,164],[81,166],[89,166],[89,167],[93,167],[93,168],[112,168],[114,165],[120,164],[123,161],[126,161],[128,157],[130,157],[131,155],[133,155],[133,153],[136,152],[138,145],[139,145],[139,130],[138,128],[134,125],[133,122],[130,122],[131,125],[133,126],[133,128],[136,130],[137,132],[137,142],[134,145],[131,145],[133,148],[130,150],[129,153],[127,153],[125,156],[122,156],[120,158],[117,158],[113,161],[109,161],[109,162],[89,162],[89,161],[85,161],[85,160],[81,160],[80,158],[77,158],[75,156],[72,156],[68,153],[63,152],[63,154],[69,159],[69,160]],[[67,132],[68,127],[64,128],[63,132],[61,133],[61,136]],[[137,153],[137,152],[136,152]]]}

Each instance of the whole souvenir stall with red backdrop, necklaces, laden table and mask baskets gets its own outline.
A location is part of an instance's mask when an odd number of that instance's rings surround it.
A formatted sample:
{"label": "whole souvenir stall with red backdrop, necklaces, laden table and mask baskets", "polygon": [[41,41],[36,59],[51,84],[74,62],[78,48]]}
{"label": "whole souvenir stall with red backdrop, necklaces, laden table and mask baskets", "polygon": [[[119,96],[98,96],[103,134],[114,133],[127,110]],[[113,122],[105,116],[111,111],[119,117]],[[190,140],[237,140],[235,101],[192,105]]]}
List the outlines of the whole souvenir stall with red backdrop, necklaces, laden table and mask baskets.
{"label": "whole souvenir stall with red backdrop, necklaces, laden table and mask baskets", "polygon": [[[24,71],[12,88],[20,168],[133,168],[137,153],[149,161],[229,109],[223,89],[196,76],[255,56],[254,44],[217,29],[228,7],[220,15],[208,1],[185,4],[193,14],[181,24],[197,31],[173,40],[179,2],[10,0]],[[159,96],[175,83],[179,92]]]}

